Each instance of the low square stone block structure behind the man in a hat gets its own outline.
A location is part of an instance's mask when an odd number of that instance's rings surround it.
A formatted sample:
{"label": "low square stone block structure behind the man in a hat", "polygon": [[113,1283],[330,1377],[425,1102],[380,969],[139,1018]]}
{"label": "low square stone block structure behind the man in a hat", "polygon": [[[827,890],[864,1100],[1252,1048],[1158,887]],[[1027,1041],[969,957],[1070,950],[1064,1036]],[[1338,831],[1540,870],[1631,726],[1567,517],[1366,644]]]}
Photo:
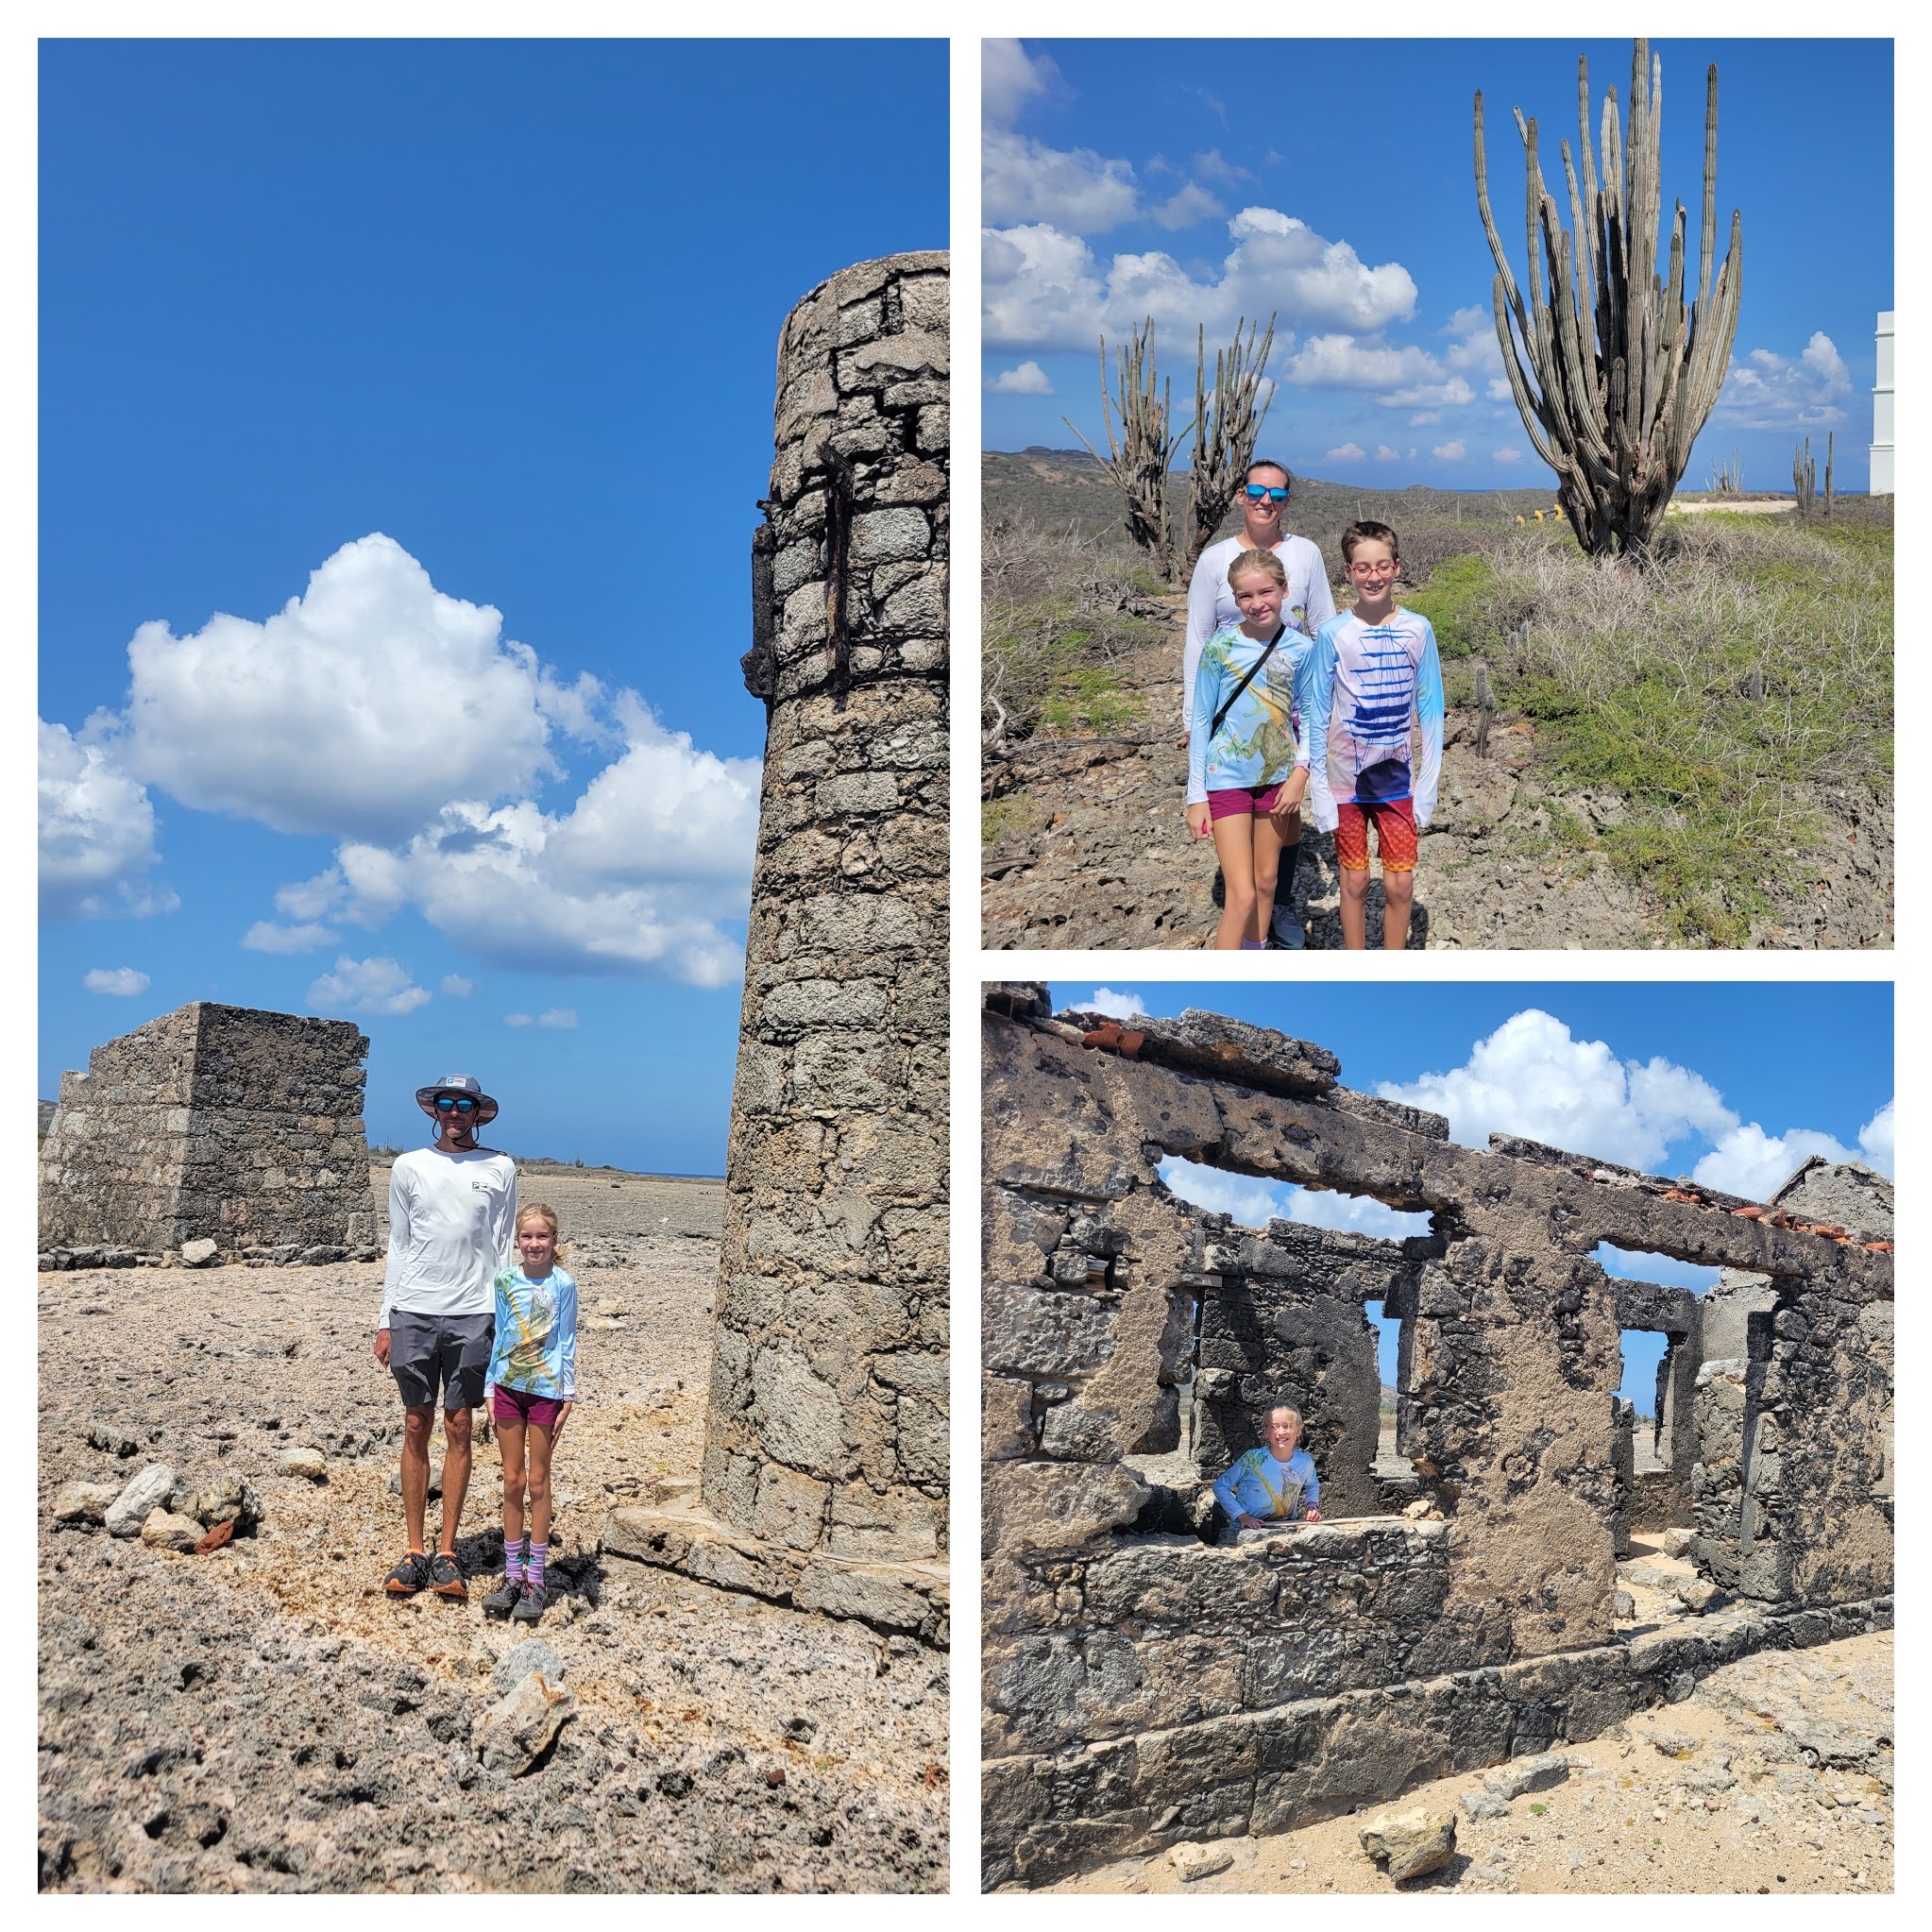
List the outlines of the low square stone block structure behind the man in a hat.
{"label": "low square stone block structure behind the man in a hat", "polygon": [[367,1055],[344,1020],[211,1001],[95,1047],[41,1144],[41,1246],[334,1260],[373,1240]]}

